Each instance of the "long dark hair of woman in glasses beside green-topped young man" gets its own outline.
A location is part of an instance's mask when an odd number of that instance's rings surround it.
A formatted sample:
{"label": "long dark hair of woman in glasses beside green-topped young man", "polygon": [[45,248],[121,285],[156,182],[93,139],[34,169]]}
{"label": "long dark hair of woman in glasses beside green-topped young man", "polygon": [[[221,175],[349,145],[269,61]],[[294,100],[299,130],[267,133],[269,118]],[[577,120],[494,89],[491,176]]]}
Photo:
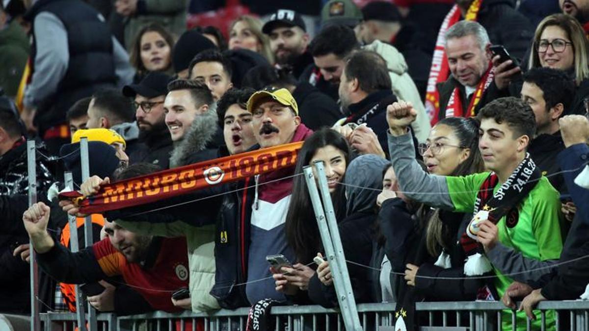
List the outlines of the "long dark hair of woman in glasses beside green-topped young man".
{"label": "long dark hair of woman in glasses beside green-topped young man", "polygon": [[[446,117],[436,125],[448,125],[458,137],[461,148],[469,148],[470,150],[468,158],[459,164],[450,176],[466,176],[484,170],[481,151],[478,148],[479,123],[477,120],[472,117]],[[423,206],[419,211],[422,220],[426,217],[428,210],[428,206]],[[428,253],[434,257],[441,253],[441,247],[449,249],[455,241],[455,233],[451,233],[449,227],[445,226],[439,213],[439,209],[434,210],[426,227],[426,247]]]}

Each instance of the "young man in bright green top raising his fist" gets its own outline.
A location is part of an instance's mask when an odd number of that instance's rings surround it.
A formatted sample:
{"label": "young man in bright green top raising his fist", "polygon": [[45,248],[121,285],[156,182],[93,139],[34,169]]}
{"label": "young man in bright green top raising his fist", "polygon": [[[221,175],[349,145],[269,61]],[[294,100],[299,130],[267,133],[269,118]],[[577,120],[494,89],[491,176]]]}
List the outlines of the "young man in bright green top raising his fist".
{"label": "young man in bright green top raising his fist", "polygon": [[[562,250],[558,192],[527,154],[535,133],[534,112],[517,98],[500,98],[482,108],[478,114],[479,150],[485,168],[491,172],[465,177],[432,176],[419,167],[408,133],[415,116],[408,102],[395,102],[387,109],[391,163],[401,190],[409,198],[432,207],[474,214],[461,237],[469,256],[465,274],[493,270],[497,277],[489,282],[491,288],[481,290],[480,299],[499,300],[512,279],[497,268],[491,269],[482,255],[479,229],[487,230],[490,224],[496,224],[499,243],[525,259],[555,260]],[[485,250],[492,248],[485,246]],[[518,313],[517,317],[518,329],[524,328],[525,315]],[[545,317],[547,325],[553,326],[554,315],[549,312]],[[504,313],[502,321],[504,329],[511,329],[511,313]],[[538,320],[532,323],[532,328],[536,327],[540,327]]]}

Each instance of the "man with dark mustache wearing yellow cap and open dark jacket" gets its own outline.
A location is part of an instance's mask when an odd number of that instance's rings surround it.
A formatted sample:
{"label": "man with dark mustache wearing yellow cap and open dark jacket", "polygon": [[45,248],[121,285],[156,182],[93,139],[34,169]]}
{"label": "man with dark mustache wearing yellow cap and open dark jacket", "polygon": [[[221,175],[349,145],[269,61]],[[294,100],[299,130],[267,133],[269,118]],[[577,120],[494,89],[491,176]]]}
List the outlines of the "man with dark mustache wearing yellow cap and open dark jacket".
{"label": "man with dark mustache wearing yellow cap and open dark jacket", "polygon": [[[259,148],[302,141],[313,133],[300,122],[299,107],[286,88],[257,91],[247,101],[247,111]],[[283,293],[276,292],[266,256],[283,254],[294,260],[284,237],[293,171],[286,168],[247,178],[237,183],[240,191],[231,194],[232,203],[223,204],[217,238],[226,240],[215,247],[217,272],[211,290],[221,307],[250,306],[266,298],[286,301]],[[259,279],[263,281],[231,286]]]}

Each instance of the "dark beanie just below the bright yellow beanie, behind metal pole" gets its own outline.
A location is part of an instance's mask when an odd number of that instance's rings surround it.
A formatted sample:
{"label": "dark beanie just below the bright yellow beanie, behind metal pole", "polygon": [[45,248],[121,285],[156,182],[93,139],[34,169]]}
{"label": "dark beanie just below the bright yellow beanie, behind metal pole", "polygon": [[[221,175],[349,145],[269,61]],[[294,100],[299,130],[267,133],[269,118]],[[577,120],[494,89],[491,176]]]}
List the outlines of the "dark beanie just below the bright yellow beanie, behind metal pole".
{"label": "dark beanie just below the bright yellow beanie, behind metal pole", "polygon": [[[74,183],[82,184],[82,166],[80,162],[80,143],[63,145],[59,155],[64,158],[65,170],[71,171]],[[112,177],[117,170],[120,160],[117,151],[111,145],[102,141],[88,141],[88,164],[90,176],[100,178]]]}

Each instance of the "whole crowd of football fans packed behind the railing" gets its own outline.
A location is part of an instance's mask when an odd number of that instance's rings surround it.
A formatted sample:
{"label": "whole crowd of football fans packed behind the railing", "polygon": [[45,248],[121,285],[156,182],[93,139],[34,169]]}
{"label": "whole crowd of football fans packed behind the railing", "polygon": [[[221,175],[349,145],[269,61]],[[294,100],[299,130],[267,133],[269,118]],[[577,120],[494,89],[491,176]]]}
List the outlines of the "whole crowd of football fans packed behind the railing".
{"label": "whole crowd of football fans packed behind the railing", "polygon": [[[0,2],[0,312],[30,312],[29,243],[44,311],[75,311],[82,283],[118,315],[337,306],[302,176],[316,161],[356,302],[396,302],[408,329],[423,300],[501,300],[540,328],[538,302],[585,292],[589,2],[329,0],[317,29],[277,9],[227,31],[186,29],[187,1],[106,2]],[[64,171],[91,197],[297,142],[296,166],[142,206],[59,197]]]}

